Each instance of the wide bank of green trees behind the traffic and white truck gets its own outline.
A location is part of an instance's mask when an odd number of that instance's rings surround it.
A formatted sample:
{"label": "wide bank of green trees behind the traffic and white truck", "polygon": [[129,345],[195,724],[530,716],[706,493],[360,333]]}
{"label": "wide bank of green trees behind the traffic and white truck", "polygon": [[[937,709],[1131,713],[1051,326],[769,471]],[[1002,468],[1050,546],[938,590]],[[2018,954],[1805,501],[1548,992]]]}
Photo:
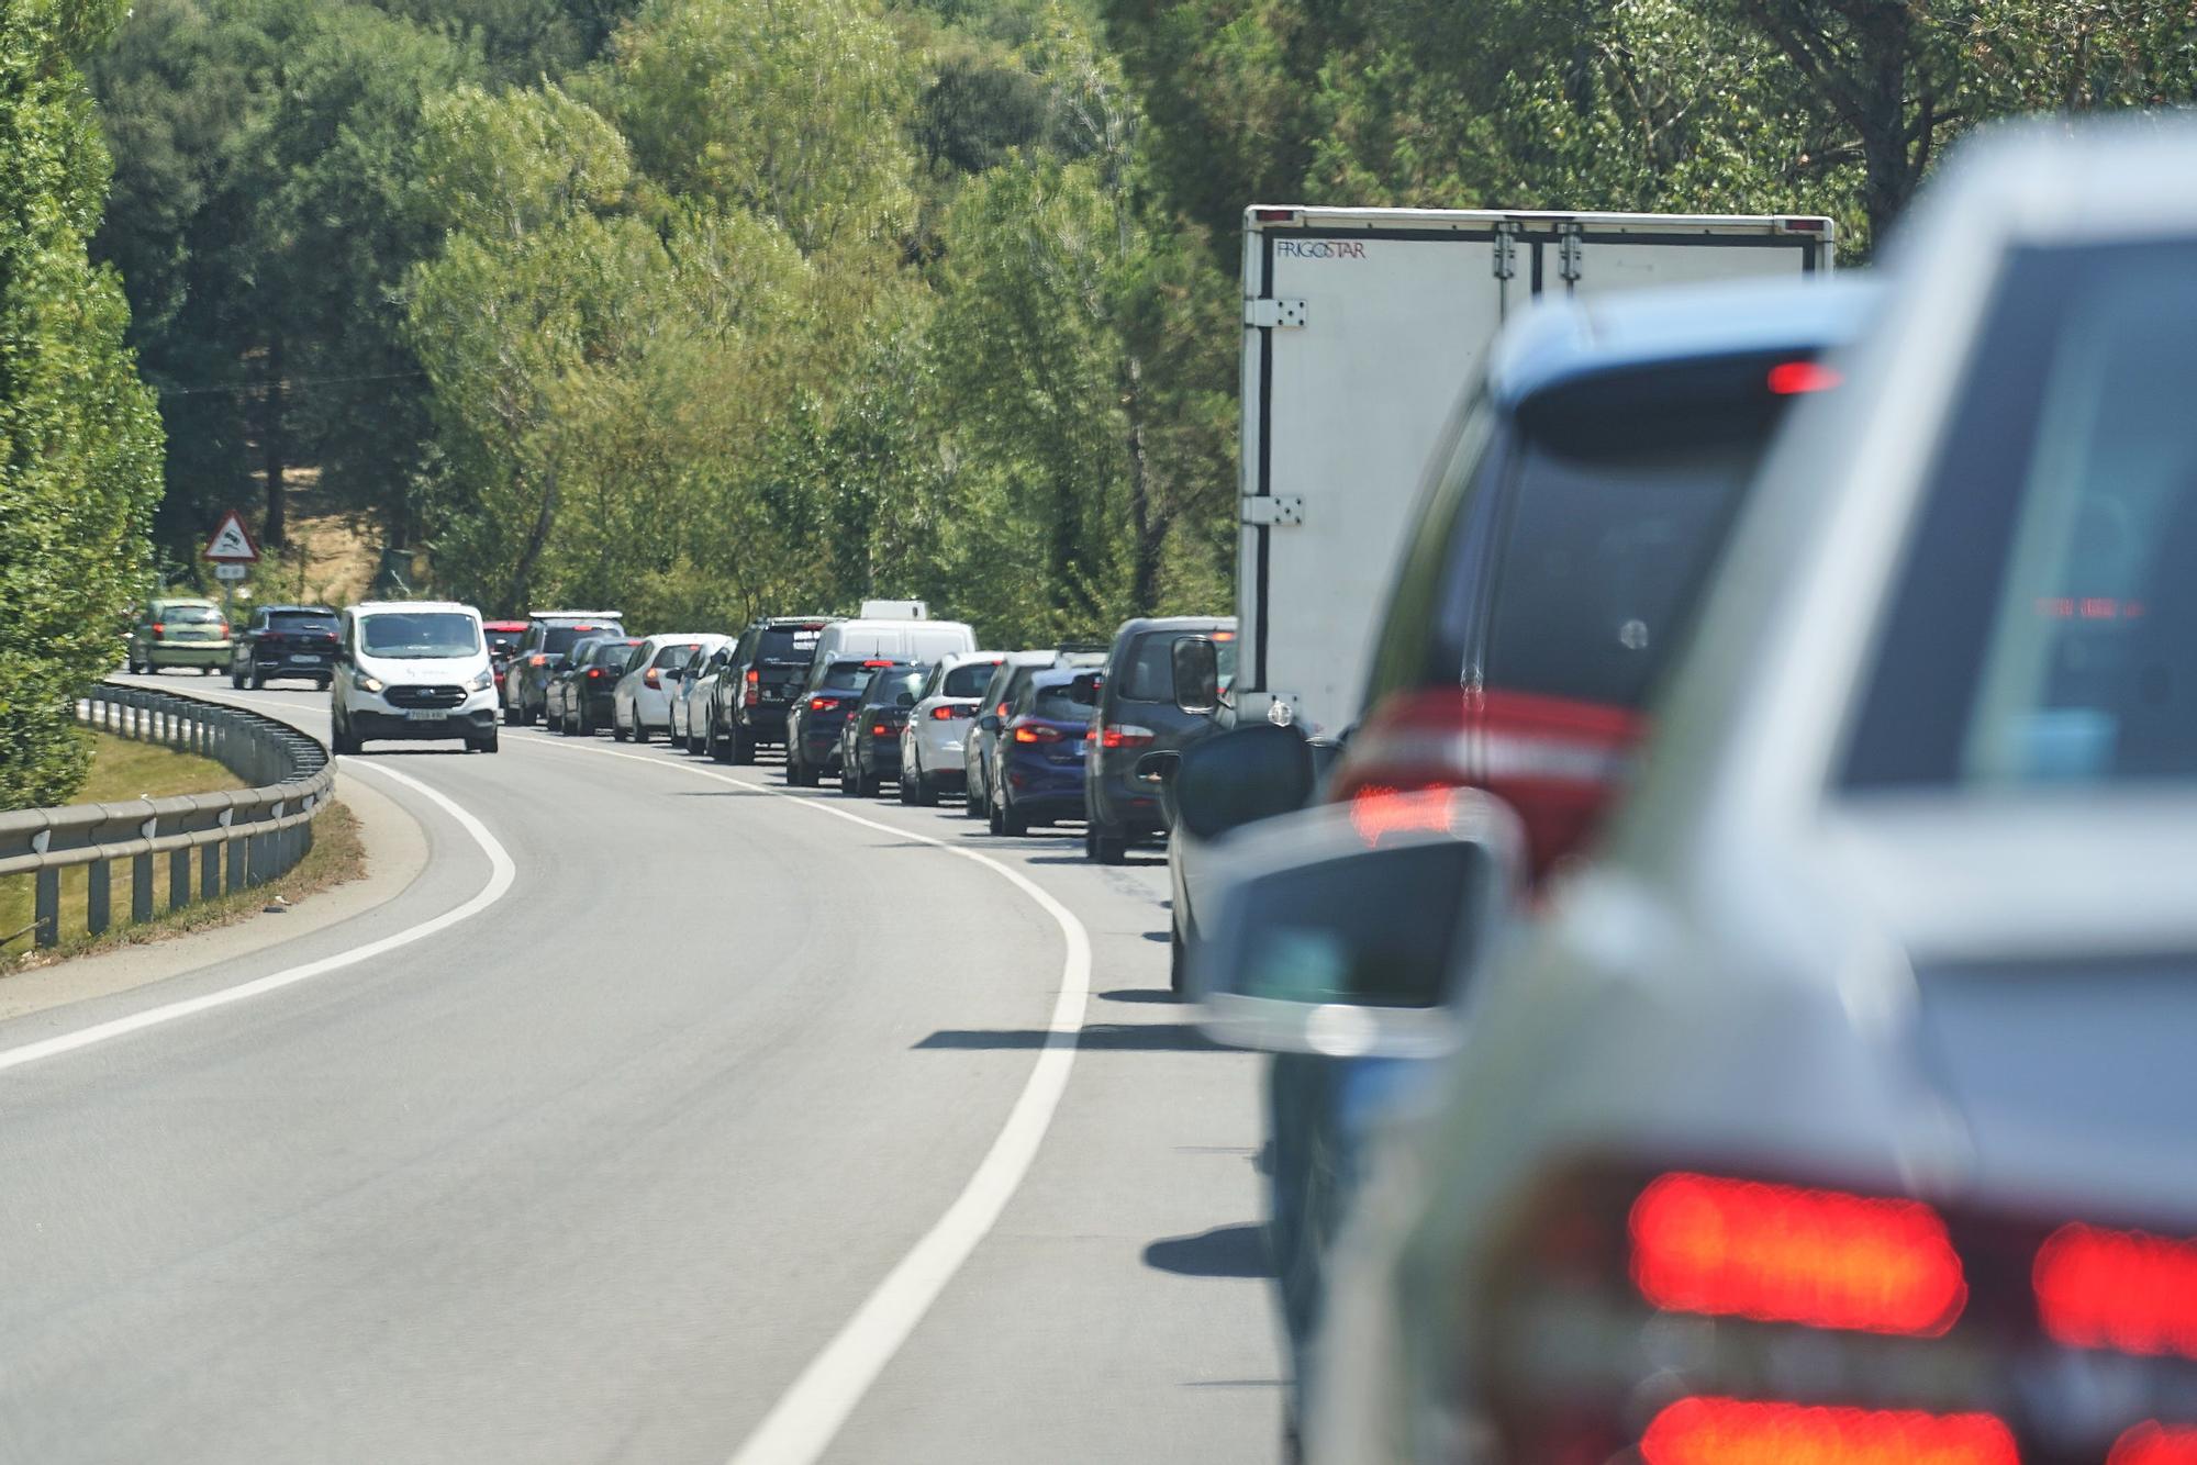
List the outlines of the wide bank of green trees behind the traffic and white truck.
{"label": "wide bank of green trees behind the traffic and white truck", "polygon": [[1828,211],[2186,101],[2157,0],[141,0],[97,70],[187,549],[299,466],[492,608],[1228,600],[1252,200]]}

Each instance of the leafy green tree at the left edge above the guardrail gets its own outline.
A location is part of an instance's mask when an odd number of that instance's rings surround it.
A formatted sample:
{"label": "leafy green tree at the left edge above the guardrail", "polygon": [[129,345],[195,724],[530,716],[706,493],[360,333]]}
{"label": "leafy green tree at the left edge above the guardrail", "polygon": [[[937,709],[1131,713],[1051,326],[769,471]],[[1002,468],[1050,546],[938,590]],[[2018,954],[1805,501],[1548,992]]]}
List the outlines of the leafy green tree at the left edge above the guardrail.
{"label": "leafy green tree at the left edge above the guardrail", "polygon": [[143,589],[160,424],[86,239],[108,154],[77,64],[121,0],[0,0],[0,808],[59,804],[70,705]]}

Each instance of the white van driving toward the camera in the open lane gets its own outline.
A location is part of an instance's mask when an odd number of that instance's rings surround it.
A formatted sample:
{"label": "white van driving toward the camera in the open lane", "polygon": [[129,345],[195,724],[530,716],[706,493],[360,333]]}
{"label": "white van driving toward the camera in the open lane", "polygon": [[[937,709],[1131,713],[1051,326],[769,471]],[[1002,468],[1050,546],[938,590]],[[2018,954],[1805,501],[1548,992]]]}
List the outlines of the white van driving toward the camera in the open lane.
{"label": "white van driving toward the camera in the open lane", "polygon": [[497,668],[481,613],[450,600],[345,606],[327,703],[338,753],[369,738],[464,738],[494,753]]}

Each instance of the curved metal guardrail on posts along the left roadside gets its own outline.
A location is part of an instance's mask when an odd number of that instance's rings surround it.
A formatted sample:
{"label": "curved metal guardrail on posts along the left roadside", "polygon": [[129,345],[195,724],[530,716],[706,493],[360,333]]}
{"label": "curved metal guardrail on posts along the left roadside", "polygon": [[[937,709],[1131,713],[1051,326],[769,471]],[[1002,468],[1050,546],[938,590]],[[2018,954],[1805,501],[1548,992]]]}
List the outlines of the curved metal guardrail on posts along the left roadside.
{"label": "curved metal guardrail on posts along the left roadside", "polygon": [[[130,804],[68,804],[0,813],[0,874],[35,874],[35,931],[62,940],[62,870],[86,865],[86,929],[112,925],[112,861],[130,861],[130,920],[154,918],[154,859],[167,854],[167,909],[185,909],[283,874],[312,848],[312,817],[334,791],[327,749],[288,723],[174,692],[103,681],[77,703],[99,731],[213,758],[253,789]],[[226,857],[224,857],[226,850]],[[198,879],[191,879],[193,852]],[[196,892],[196,896],[193,896]]]}

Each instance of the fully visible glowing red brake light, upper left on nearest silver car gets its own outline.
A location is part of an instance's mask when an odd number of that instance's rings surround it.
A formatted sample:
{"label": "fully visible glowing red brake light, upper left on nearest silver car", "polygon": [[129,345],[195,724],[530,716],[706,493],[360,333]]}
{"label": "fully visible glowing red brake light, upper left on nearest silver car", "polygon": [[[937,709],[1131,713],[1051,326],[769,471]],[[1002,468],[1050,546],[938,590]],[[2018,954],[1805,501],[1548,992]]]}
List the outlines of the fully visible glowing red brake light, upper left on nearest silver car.
{"label": "fully visible glowing red brake light, upper left on nearest silver car", "polygon": [[1674,1173],[1632,1204],[1630,1230],[1632,1283],[1672,1311],[1936,1338],[1969,1300],[1920,1201]]}

